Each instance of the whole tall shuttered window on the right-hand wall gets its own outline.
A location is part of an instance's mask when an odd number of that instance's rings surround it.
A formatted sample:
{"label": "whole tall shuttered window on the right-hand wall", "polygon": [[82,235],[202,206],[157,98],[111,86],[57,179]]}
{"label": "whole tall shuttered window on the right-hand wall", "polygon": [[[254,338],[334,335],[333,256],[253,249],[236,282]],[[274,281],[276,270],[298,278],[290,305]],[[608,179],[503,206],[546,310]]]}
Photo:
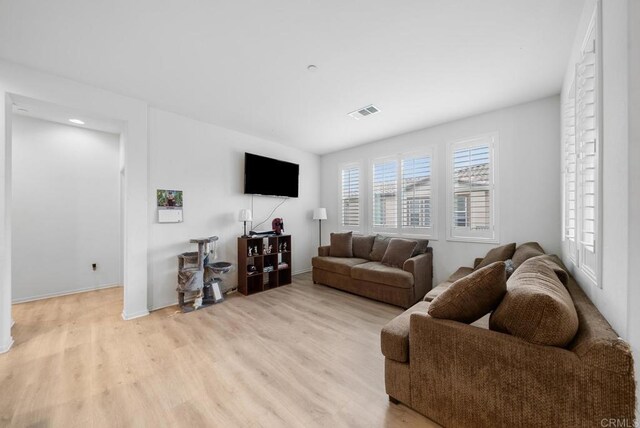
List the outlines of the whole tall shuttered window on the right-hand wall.
{"label": "whole tall shuttered window on the right-hand wall", "polygon": [[565,95],[564,236],[572,262],[600,285],[600,2],[589,24],[575,81]]}

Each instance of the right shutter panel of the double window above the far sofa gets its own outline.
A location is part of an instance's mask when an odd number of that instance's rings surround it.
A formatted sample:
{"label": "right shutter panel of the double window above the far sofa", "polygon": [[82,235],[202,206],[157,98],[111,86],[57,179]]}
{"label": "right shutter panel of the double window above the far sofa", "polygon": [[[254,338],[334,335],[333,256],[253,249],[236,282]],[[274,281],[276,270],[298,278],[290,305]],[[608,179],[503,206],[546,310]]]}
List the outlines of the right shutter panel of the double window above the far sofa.
{"label": "right shutter panel of the double window above the far sofa", "polygon": [[402,228],[431,227],[431,156],[402,160]]}

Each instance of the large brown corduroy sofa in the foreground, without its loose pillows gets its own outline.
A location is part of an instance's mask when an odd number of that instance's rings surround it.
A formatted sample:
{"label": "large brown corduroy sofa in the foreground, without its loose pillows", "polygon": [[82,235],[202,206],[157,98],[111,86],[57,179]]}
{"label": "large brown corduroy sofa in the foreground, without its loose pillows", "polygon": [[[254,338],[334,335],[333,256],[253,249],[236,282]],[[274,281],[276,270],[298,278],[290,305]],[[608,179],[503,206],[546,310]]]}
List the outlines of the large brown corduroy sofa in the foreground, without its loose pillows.
{"label": "large brown corduroy sofa in the foreground, without its loose pillows", "polygon": [[472,324],[429,316],[431,300],[471,272],[458,269],[383,328],[391,402],[443,426],[635,426],[629,345],[571,275],[578,329],[568,346],[555,347],[490,330],[489,315]]}

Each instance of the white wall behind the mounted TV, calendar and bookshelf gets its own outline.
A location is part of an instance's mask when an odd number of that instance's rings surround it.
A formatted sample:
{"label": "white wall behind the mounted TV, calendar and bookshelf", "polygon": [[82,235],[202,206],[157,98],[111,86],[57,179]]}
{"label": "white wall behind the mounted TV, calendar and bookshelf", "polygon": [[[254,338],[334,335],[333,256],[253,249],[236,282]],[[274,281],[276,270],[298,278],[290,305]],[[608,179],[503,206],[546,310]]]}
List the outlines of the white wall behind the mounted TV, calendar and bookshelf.
{"label": "white wall behind the mounted TV, calendar and bookshelf", "polygon": [[[245,151],[300,164],[299,197],[288,199],[256,229],[269,230],[271,220],[282,217],[285,233],[292,235],[293,272],[311,269],[318,239],[312,210],[319,206],[319,156],[155,108],[150,109],[149,128],[150,201],[156,189],[184,191],[183,223],[158,223],[150,204],[150,308],[176,303],[176,256],[196,249],[189,239],[217,235],[218,259],[237,263],[237,237],[243,231],[238,213],[251,208],[252,199],[243,194]],[[254,197],[254,224],[281,201]],[[237,285],[235,271],[224,278]]]}

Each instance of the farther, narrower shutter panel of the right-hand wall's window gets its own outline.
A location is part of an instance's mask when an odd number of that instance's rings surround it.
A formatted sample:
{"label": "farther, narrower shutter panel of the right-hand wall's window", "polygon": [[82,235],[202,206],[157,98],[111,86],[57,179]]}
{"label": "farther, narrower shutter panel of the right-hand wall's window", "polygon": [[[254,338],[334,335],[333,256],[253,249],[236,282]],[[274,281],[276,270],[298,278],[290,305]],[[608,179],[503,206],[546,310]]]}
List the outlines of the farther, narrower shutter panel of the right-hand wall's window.
{"label": "farther, narrower shutter panel of the right-hand wall's window", "polygon": [[576,230],[578,218],[578,179],[576,144],[576,100],[575,83],[569,90],[568,99],[563,106],[563,145],[564,145],[564,239],[568,241],[569,256],[577,260]]}

